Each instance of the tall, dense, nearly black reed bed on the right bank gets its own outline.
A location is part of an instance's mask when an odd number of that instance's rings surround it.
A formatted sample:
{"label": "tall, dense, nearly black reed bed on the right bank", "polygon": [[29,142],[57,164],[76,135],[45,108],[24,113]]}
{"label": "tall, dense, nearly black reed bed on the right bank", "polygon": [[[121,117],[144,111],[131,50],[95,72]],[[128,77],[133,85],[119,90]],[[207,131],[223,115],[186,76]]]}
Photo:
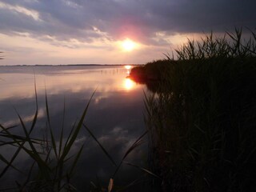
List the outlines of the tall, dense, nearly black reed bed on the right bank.
{"label": "tall, dense, nearly black reed bed on the right bank", "polygon": [[141,69],[158,77],[145,103],[162,191],[256,190],[256,36],[226,36],[189,40],[178,60]]}

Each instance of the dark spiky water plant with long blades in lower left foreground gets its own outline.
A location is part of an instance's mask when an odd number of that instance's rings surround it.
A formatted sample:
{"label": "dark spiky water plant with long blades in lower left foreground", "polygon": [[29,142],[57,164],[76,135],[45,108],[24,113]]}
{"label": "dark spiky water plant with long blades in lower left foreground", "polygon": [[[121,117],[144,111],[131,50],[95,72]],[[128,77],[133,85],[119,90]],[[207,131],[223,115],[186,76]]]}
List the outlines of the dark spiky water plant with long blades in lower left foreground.
{"label": "dark spiky water plant with long blades in lower left foreground", "polygon": [[[36,87],[35,87],[36,90]],[[59,138],[56,138],[53,133],[53,127],[50,123],[50,111],[48,105],[48,99],[46,94],[46,122],[50,132],[50,138],[32,138],[31,134],[38,121],[38,98],[36,95],[36,110],[34,118],[30,127],[27,127],[22,120],[22,117],[18,114],[19,121],[22,126],[24,135],[17,135],[12,132],[16,126],[5,127],[0,125],[2,128],[0,137],[5,138],[0,141],[1,146],[13,146],[16,148],[13,156],[10,159],[0,156],[0,160],[6,164],[6,167],[2,170],[0,177],[6,174],[6,171],[11,167],[19,172],[17,167],[12,164],[18,157],[21,151],[25,152],[31,160],[33,160],[32,166],[28,174],[24,174],[26,179],[23,183],[17,183],[17,187],[20,191],[74,191],[75,187],[71,183],[72,175],[74,174],[74,168],[78,162],[78,158],[82,153],[83,145],[78,150],[77,154],[73,154],[71,149],[74,146],[75,140],[78,138],[78,134],[82,128],[82,122],[86,117],[89,102],[86,104],[85,109],[82,112],[81,118],[78,122],[74,123],[67,138],[63,136],[64,130],[64,118],[65,118],[65,102],[63,110],[63,122],[60,129]],[[58,144],[57,144],[58,139]],[[14,190],[12,189],[12,190]]]}

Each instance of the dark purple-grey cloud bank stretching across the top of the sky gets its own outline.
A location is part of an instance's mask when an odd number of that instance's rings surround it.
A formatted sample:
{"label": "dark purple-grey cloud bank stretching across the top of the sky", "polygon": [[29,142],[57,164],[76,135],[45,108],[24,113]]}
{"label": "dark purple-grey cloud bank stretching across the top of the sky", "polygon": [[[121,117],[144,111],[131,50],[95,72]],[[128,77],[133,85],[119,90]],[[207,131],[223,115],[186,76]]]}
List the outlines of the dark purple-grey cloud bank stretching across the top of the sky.
{"label": "dark purple-grey cloud bank stretching across the top of the sky", "polygon": [[[0,31],[51,35],[59,40],[94,38],[112,40],[131,36],[154,44],[157,31],[166,34],[222,32],[235,26],[254,30],[256,2],[253,0],[2,0],[12,6],[37,11],[40,21],[15,10],[1,9]],[[102,33],[96,33],[95,28]]]}

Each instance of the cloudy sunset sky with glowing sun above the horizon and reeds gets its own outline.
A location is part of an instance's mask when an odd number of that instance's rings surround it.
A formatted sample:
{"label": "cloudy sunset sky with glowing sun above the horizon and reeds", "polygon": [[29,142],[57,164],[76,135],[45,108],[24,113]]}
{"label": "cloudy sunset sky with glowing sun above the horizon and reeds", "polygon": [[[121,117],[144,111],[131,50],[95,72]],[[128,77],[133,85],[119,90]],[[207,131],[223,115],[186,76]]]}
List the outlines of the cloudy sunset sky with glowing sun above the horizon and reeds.
{"label": "cloudy sunset sky with glowing sun above the horizon and reeds", "polygon": [[255,0],[0,0],[0,65],[145,64],[187,38],[256,30],[255,7]]}

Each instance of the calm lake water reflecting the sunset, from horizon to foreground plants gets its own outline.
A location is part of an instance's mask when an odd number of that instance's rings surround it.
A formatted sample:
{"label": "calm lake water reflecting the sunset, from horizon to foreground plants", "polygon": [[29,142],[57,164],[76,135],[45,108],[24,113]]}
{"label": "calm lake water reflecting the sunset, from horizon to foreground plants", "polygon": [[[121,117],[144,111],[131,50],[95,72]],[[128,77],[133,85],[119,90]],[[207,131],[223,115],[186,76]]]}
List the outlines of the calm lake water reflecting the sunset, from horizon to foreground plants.
{"label": "calm lake water reflecting the sunset, from horizon to foreground plants", "polygon": [[[0,66],[0,123],[6,127],[19,125],[15,111],[17,110],[26,125],[30,125],[36,106],[35,82],[38,94],[38,122],[33,136],[40,138],[46,132],[46,94],[50,122],[56,136],[60,134],[65,101],[64,124],[68,133],[97,89],[85,122],[118,163],[127,148],[145,131],[145,87],[127,79],[129,71],[125,66]],[[17,134],[22,133],[20,126],[15,131]],[[82,129],[75,142],[74,153],[82,144],[85,146],[78,161],[74,183],[79,190],[85,191],[90,181],[102,182],[102,185],[106,186],[114,173],[114,166],[85,129]],[[126,161],[145,167],[146,150],[145,143],[130,154]],[[0,153],[8,159],[14,150],[0,146]],[[30,158],[23,153],[19,154],[14,166],[26,170],[30,163]],[[2,167],[0,163],[0,170]],[[123,165],[114,182],[125,186],[140,176],[141,171]],[[22,177],[22,174],[15,170],[8,170],[6,175],[0,178],[0,189],[13,186],[14,181],[22,181]]]}

